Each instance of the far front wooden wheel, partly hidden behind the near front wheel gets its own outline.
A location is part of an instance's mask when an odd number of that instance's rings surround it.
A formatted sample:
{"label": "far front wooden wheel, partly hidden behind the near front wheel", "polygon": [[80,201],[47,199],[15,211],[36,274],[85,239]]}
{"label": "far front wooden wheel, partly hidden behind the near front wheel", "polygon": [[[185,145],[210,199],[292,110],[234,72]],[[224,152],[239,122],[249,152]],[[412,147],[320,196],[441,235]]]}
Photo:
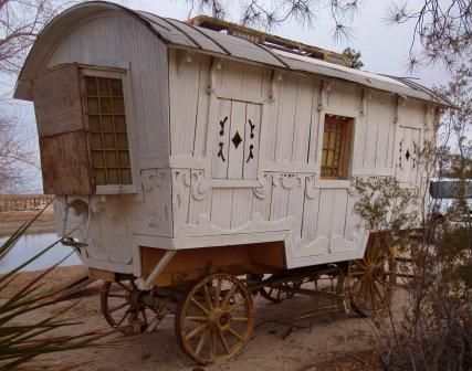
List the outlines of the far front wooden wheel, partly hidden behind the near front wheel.
{"label": "far front wooden wheel, partly hidden behind the near front wheel", "polygon": [[144,293],[129,282],[105,282],[101,293],[102,314],[109,326],[125,335],[150,332],[160,322],[160,317],[149,309]]}

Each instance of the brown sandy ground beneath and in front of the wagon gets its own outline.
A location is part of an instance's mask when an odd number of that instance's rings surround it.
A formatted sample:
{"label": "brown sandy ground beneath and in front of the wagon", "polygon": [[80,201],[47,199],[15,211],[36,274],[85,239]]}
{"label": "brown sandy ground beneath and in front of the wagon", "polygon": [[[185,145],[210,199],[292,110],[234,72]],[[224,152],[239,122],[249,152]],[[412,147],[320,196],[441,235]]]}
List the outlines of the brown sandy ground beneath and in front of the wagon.
{"label": "brown sandy ground beneath and in front of the wagon", "polygon": [[[81,267],[60,268],[54,280],[64,280],[72,274],[81,272]],[[34,273],[22,274],[15,285],[20,286]],[[310,284],[308,284],[310,285]],[[405,303],[403,292],[396,294],[395,306],[398,311]],[[65,307],[70,303],[63,303]],[[276,324],[272,320],[283,319],[284,315],[308,310],[316,306],[308,297],[295,296],[281,304],[268,303],[264,298],[254,297],[255,329],[244,351],[234,360],[201,368],[188,359],[178,347],[174,336],[174,317],[168,316],[150,335],[139,335],[132,339],[114,333],[111,340],[124,340],[120,348],[85,349],[55,354],[54,362],[76,362],[85,359],[97,359],[93,364],[80,370],[115,371],[174,371],[174,370],[261,370],[261,371],[342,371],[342,370],[377,370],[371,365],[375,336],[370,321],[340,314],[321,315],[306,320]],[[42,309],[34,316],[54,312],[59,308]],[[84,297],[69,315],[77,317],[82,325],[67,329],[69,333],[106,328],[99,310],[99,296],[95,294]],[[29,320],[33,320],[30,318]],[[293,325],[296,325],[294,328]],[[301,328],[298,328],[301,327]],[[377,357],[378,359],[378,357]],[[366,365],[369,363],[370,365]]]}

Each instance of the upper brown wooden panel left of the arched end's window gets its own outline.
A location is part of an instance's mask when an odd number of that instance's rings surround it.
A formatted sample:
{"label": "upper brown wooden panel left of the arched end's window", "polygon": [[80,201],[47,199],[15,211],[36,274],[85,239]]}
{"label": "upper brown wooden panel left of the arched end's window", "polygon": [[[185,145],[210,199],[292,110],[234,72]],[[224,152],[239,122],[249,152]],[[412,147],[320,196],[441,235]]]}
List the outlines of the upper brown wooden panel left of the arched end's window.
{"label": "upper brown wooden panel left of the arched end's window", "polygon": [[35,78],[33,98],[40,137],[84,129],[77,64],[57,66]]}

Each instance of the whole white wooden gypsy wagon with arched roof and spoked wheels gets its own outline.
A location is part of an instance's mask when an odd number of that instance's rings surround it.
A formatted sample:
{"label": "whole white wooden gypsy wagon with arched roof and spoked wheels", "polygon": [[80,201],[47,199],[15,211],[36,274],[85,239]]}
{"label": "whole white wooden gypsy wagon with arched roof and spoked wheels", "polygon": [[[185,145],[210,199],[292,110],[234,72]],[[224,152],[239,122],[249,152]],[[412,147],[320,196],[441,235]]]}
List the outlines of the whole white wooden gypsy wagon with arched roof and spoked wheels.
{"label": "whole white wooden gypsy wagon with arched roof and spoked wheels", "polygon": [[420,186],[413,150],[447,104],[315,46],[98,1],[43,30],[14,96],[34,103],[44,192],[105,280],[106,320],[150,331],[170,311],[201,363],[243,348],[258,290],[279,301],[328,274],[343,310],[388,299],[395,264],[349,179]]}

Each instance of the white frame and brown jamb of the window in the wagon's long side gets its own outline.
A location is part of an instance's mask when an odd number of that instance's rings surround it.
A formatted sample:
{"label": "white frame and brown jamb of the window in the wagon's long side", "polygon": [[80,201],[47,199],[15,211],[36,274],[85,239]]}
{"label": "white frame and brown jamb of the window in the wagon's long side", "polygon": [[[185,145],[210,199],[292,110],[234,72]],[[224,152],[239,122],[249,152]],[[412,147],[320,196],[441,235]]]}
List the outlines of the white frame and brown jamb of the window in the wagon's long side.
{"label": "white frame and brown jamb of the window in the wagon's long side", "polygon": [[[325,123],[326,116],[342,116],[347,118],[347,125],[343,132],[342,138],[342,149],[340,149],[340,159],[339,159],[339,171],[342,172],[340,177],[325,177],[322,176],[323,168],[323,144],[324,144],[324,134],[325,134]],[[335,182],[339,186],[348,187],[349,178],[353,172],[353,161],[354,161],[354,138],[355,138],[355,128],[357,121],[357,114],[354,112],[346,112],[343,109],[329,109],[322,112],[322,120],[319,125],[319,150],[318,150],[318,181],[319,186],[333,187]]]}

